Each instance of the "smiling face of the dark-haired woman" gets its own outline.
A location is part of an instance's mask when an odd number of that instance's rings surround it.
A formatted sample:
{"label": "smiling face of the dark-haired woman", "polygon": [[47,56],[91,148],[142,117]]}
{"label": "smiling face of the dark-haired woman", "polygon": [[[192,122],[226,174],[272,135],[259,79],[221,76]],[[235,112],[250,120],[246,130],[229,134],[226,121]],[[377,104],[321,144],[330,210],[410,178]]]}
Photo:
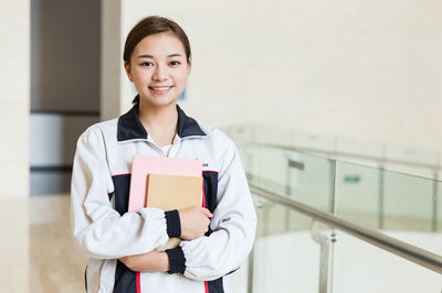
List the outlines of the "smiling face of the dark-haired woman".
{"label": "smiling face of the dark-haired woman", "polygon": [[185,46],[173,33],[146,36],[134,48],[126,74],[134,83],[140,104],[164,107],[176,104],[190,73]]}

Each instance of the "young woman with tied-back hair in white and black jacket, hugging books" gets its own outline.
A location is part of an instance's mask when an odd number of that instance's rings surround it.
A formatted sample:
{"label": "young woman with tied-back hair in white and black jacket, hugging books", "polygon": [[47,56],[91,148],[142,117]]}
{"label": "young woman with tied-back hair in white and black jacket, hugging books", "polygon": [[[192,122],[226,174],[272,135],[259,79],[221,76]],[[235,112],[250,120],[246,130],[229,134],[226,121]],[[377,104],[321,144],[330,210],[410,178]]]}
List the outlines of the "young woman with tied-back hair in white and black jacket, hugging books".
{"label": "young woman with tied-back hair in white and black jacket, hugging books", "polygon": [[[133,28],[124,67],[138,95],[119,118],[78,139],[72,174],[72,232],[87,292],[229,292],[254,240],[256,215],[233,142],[177,105],[191,67],[188,37],[173,21],[149,17]],[[203,207],[127,213],[134,154],[203,162]],[[181,243],[166,252],[169,238]]]}

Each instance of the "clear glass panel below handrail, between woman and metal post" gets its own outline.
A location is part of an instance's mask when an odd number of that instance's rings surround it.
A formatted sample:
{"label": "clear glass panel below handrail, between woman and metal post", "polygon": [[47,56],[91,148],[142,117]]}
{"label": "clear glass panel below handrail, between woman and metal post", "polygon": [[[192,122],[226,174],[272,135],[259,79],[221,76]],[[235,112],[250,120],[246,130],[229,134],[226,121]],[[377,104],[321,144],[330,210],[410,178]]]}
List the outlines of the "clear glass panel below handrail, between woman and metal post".
{"label": "clear glass panel below handrail, between woman and metal post", "polygon": [[312,219],[260,196],[254,200],[259,221],[249,292],[318,292],[320,249],[311,237]]}

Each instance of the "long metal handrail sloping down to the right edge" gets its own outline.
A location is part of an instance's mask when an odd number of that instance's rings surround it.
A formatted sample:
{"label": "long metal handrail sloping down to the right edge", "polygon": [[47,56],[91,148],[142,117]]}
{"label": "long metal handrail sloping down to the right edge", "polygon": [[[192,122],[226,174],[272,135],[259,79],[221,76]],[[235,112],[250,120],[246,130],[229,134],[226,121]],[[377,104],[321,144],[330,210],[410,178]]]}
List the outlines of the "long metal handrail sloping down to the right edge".
{"label": "long metal handrail sloping down to the right edge", "polygon": [[420,264],[422,267],[425,267],[427,269],[442,274],[442,257],[439,254],[398,240],[377,230],[364,228],[358,225],[351,224],[339,217],[288,198],[287,196],[264,189],[253,183],[249,183],[249,186],[252,194],[294,209],[317,221],[324,223],[327,226],[330,226],[333,228],[347,232],[358,239],[361,239],[365,242],[377,246],[383,250],[390,251],[391,253],[394,253],[401,258],[404,258],[409,261],[412,261],[417,264]]}

